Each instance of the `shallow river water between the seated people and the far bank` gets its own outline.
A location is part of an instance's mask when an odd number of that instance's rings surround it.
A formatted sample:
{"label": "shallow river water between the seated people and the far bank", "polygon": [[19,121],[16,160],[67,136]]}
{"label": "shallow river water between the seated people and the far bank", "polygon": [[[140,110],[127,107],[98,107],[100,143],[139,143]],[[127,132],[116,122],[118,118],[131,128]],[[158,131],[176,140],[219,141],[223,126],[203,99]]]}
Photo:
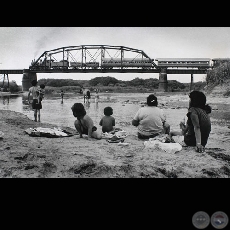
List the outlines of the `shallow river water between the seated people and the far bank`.
{"label": "shallow river water between the seated people and the far bank", "polygon": [[[85,105],[87,114],[93,119],[98,127],[100,119],[104,116],[104,108],[111,106],[116,127],[130,127],[131,121],[139,108],[144,106],[149,93],[104,93],[100,94],[99,103],[94,102],[94,96],[90,103],[84,104],[82,95],[65,95],[63,103],[59,96],[46,95],[42,101],[41,122],[54,124],[54,126],[68,126],[74,128],[76,118],[72,114],[71,107],[76,102]],[[159,107],[161,107],[173,130],[178,130],[179,122],[187,113],[187,95],[164,95],[158,96]],[[178,107],[179,106],[179,107]],[[19,96],[1,96],[0,110],[12,110],[25,114],[29,119],[34,119],[31,105],[28,105],[27,94]],[[134,127],[132,127],[134,128]],[[135,129],[135,128],[134,128]]]}

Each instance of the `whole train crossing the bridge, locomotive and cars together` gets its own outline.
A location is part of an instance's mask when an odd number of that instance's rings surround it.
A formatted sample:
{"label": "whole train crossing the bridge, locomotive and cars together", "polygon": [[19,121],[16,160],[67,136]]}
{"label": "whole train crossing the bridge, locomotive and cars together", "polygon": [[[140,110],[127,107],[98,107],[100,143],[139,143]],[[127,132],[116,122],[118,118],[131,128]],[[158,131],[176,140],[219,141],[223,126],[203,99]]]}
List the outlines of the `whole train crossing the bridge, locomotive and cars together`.
{"label": "whole train crossing the bridge, locomotive and cars together", "polygon": [[66,69],[116,69],[116,68],[196,68],[198,70],[206,70],[211,67],[211,59],[209,58],[101,58],[101,62],[77,62],[53,59],[40,59],[40,62],[32,63],[30,70],[66,70]]}

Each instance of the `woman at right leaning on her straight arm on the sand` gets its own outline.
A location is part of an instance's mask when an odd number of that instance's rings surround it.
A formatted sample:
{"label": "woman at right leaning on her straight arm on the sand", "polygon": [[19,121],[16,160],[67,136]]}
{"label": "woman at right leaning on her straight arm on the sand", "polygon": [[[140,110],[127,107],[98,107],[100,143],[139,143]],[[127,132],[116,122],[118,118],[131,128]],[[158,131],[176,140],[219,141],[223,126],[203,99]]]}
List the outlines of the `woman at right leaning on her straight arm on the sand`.
{"label": "woman at right leaning on her straight arm on the sand", "polygon": [[170,132],[170,137],[183,135],[187,146],[195,146],[197,152],[204,152],[211,132],[209,114],[212,108],[206,104],[206,96],[201,91],[189,94],[187,123],[180,123],[181,132]]}

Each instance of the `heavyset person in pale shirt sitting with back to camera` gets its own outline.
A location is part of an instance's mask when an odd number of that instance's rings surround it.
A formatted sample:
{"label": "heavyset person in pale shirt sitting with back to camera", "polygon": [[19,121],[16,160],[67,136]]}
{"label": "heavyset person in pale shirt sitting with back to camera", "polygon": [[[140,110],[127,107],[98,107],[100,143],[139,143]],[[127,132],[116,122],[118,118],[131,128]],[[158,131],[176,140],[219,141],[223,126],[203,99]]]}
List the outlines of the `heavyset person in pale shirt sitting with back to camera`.
{"label": "heavyset person in pale shirt sitting with back to camera", "polygon": [[140,108],[132,120],[132,125],[138,127],[138,138],[149,139],[160,134],[169,134],[170,125],[166,116],[158,106],[157,97],[150,94],[147,97],[147,106]]}

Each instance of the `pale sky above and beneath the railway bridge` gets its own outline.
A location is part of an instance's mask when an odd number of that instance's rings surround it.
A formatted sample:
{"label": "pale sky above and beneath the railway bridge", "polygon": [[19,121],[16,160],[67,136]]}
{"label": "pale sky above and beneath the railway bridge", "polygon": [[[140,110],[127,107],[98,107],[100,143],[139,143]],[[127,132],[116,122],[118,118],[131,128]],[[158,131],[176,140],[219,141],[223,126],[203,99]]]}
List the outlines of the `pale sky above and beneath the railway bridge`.
{"label": "pale sky above and beneath the railway bridge", "polygon": [[[126,46],[157,58],[230,58],[230,27],[0,27],[0,69],[28,69],[44,51],[79,45]],[[43,73],[41,78],[90,80],[111,76],[119,80],[157,78],[154,73]],[[191,75],[168,74],[168,80],[183,83]],[[194,74],[204,81],[205,74]],[[3,75],[0,75],[2,81]],[[22,84],[21,75],[9,80]]]}

